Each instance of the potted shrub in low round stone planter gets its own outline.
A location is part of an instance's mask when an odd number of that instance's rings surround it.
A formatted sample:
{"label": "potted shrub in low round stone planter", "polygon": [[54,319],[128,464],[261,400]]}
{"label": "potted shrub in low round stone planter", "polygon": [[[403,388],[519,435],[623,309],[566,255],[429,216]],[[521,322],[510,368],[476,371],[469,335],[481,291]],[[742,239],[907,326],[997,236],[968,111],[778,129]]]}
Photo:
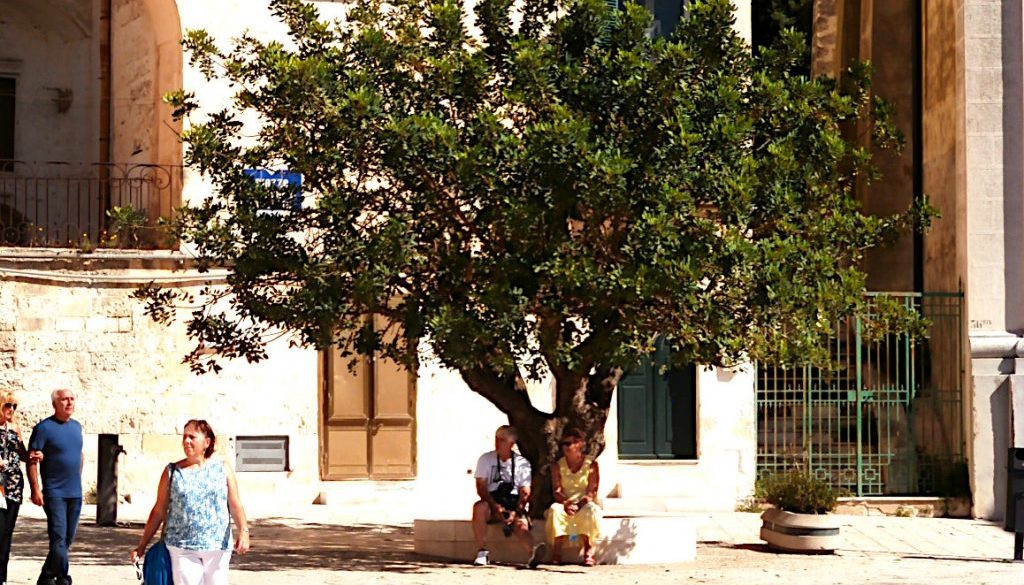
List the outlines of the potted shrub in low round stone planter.
{"label": "potted shrub in low round stone planter", "polygon": [[805,471],[766,477],[760,486],[772,508],[761,514],[761,539],[793,552],[833,552],[839,545],[836,492]]}

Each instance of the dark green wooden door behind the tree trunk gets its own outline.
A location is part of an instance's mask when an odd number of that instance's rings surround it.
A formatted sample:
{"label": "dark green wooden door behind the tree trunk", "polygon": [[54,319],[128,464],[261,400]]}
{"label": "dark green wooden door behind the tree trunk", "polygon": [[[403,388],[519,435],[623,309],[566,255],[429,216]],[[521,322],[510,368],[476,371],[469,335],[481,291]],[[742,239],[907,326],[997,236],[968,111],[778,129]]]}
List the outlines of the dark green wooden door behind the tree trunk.
{"label": "dark green wooden door behind the tree trunk", "polygon": [[668,344],[618,382],[621,459],[696,459],[696,369],[663,371]]}

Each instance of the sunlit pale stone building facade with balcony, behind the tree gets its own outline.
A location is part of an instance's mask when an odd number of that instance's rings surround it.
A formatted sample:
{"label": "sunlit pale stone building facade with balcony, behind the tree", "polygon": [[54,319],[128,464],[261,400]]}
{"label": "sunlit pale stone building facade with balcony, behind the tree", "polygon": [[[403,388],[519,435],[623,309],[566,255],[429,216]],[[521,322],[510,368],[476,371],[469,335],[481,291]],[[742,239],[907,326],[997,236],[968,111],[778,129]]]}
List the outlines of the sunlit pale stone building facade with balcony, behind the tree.
{"label": "sunlit pale stone building facade with balcony, behind the tree", "polygon": [[[333,2],[315,3],[325,16],[338,13]],[[222,457],[237,460],[243,444],[255,449],[239,473],[248,501],[280,507],[324,494],[345,505],[393,496],[408,509],[468,513],[468,472],[505,420],[457,374],[425,361],[413,376],[374,364],[368,378],[353,378],[331,354],[286,338],[261,364],[227,363],[218,375],[196,376],[181,363],[190,345],[180,323],[154,324],[131,292],[157,281],[198,294],[220,276],[194,270],[187,250],[102,249],[118,236],[161,245],[144,229],[103,233],[106,210],[130,206],[152,223],[209,193],[181,169],[180,127],[161,96],[184,87],[209,110],[226,103],[227,90],[185,62],[181,35],[202,28],[217,39],[247,31],[281,38],[266,2],[31,4],[0,0],[0,79],[13,88],[0,96],[0,112],[10,122],[7,158],[19,161],[0,168],[0,386],[18,394],[23,424],[46,416],[51,389],[76,390],[87,488],[95,483],[97,435],[117,434],[126,450],[120,493],[136,503],[152,501],[161,467],[180,455],[182,423],[207,418]],[[749,8],[738,16],[749,31]],[[31,228],[11,229],[15,220]],[[605,491],[700,509],[732,509],[751,493],[752,370],[694,369],[687,392],[685,453],[621,459],[612,413]],[[548,384],[530,394],[551,408]]]}

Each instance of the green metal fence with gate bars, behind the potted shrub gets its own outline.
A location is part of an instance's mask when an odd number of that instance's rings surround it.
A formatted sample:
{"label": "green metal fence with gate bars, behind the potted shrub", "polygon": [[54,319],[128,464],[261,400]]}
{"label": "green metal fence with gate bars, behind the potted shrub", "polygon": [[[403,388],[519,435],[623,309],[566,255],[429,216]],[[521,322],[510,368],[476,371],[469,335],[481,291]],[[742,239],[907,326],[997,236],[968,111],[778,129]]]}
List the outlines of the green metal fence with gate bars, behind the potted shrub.
{"label": "green metal fence with gate bars, behind the potted shrub", "polygon": [[836,367],[758,365],[758,473],[800,468],[850,495],[966,495],[963,295],[881,293],[930,323],[925,338],[839,324]]}

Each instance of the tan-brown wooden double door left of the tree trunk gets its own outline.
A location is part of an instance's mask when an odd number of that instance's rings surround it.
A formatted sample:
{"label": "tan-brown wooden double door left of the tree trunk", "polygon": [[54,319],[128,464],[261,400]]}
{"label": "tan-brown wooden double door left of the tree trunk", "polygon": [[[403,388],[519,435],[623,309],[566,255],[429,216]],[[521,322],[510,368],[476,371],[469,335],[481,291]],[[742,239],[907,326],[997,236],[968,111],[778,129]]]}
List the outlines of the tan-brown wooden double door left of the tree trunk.
{"label": "tan-brown wooden double door left of the tree trunk", "polygon": [[325,353],[322,477],[415,477],[415,375],[391,360],[360,358],[354,371],[348,361]]}

